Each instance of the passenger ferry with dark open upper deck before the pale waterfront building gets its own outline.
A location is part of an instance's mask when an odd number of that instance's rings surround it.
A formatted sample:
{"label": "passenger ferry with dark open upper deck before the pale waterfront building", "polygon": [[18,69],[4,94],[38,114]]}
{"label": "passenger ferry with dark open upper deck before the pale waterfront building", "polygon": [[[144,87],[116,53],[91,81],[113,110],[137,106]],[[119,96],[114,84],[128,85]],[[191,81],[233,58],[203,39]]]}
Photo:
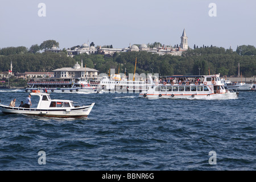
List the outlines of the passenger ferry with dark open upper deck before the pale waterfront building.
{"label": "passenger ferry with dark open upper deck before the pale waterfront building", "polygon": [[27,82],[26,92],[40,90],[42,93],[97,93],[96,86],[91,86],[84,78],[35,78]]}

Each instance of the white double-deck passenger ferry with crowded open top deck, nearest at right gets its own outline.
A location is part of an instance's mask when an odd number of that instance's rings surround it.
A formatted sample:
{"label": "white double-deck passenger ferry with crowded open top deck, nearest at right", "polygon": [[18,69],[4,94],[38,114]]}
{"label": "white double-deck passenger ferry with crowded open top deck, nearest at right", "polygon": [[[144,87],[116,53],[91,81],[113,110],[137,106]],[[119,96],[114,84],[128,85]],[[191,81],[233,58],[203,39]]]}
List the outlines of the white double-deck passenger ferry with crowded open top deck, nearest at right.
{"label": "white double-deck passenger ferry with crowded open top deck, nearest at right", "polygon": [[[187,99],[235,99],[238,92],[224,88],[220,75],[172,76],[168,81],[154,81],[147,91],[139,94],[142,98],[187,98]],[[152,78],[151,78],[152,80]]]}

